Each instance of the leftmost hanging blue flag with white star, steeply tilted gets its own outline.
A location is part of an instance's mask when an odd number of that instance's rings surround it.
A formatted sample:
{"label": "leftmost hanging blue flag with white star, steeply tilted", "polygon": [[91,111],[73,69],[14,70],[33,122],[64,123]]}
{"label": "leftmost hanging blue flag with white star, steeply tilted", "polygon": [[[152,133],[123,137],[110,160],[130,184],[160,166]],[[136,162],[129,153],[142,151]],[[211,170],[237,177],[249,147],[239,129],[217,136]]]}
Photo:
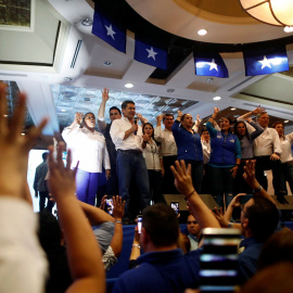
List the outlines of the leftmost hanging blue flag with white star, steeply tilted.
{"label": "leftmost hanging blue flag with white star, steeply tilted", "polygon": [[126,28],[117,26],[94,5],[92,34],[118,51],[126,52]]}

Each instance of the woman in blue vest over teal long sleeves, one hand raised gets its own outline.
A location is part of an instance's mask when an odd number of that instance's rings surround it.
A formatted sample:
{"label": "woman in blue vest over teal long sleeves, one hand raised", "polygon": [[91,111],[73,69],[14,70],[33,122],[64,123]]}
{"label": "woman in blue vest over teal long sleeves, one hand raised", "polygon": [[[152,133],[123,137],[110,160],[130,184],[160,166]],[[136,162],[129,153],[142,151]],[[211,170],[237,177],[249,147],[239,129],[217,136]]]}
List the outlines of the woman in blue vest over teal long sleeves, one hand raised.
{"label": "woman in blue vest over teal long sleeves, one hand raised", "polygon": [[231,120],[222,117],[220,131],[214,128],[214,122],[219,113],[214,107],[214,113],[206,123],[206,129],[211,136],[209,175],[212,195],[219,206],[224,206],[224,194],[226,206],[232,200],[233,178],[237,175],[241,161],[241,148],[239,139],[231,132]]}

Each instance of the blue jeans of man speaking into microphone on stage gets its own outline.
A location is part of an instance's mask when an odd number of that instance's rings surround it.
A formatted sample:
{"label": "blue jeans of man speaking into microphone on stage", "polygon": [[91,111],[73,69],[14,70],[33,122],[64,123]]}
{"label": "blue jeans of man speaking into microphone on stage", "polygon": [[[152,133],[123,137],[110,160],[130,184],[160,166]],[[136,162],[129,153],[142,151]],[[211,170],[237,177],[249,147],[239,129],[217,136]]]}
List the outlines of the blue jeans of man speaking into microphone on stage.
{"label": "blue jeans of man speaking into microphone on stage", "polygon": [[119,195],[125,201],[125,217],[135,218],[136,215],[131,215],[129,203],[129,188],[130,182],[133,180],[138,187],[139,194],[138,204],[142,211],[150,205],[150,186],[149,176],[144,157],[140,153],[128,153],[118,151],[117,153],[117,176],[119,180]]}

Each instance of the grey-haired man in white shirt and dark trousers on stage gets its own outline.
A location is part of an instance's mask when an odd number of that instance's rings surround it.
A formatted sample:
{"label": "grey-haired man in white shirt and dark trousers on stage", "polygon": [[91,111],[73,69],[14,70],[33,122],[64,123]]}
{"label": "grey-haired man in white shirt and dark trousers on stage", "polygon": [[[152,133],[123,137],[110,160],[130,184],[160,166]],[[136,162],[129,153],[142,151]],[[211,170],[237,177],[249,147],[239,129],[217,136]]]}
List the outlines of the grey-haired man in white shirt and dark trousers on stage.
{"label": "grey-haired man in white shirt and dark trousers on stage", "polygon": [[[268,127],[269,115],[263,112],[256,116],[257,123],[265,129],[264,132],[254,140],[254,155],[256,158],[255,176],[258,182],[267,190],[268,181],[264,175],[265,170],[272,170],[272,184],[275,194],[283,201],[281,190],[281,162],[282,152],[280,139],[276,129]],[[247,126],[247,129],[250,126]]]}

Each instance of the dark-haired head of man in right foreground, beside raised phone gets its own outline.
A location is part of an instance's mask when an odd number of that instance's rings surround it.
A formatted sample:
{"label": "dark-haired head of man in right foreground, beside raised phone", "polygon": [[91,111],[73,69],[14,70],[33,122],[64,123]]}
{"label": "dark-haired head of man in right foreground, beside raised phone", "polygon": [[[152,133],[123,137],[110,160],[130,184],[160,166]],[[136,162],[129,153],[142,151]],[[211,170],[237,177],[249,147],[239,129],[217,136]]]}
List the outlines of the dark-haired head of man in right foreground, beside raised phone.
{"label": "dark-haired head of man in right foreground, beside raised phone", "polygon": [[254,238],[267,240],[276,230],[279,222],[279,212],[276,205],[262,196],[254,196],[254,203],[247,206],[245,217]]}

